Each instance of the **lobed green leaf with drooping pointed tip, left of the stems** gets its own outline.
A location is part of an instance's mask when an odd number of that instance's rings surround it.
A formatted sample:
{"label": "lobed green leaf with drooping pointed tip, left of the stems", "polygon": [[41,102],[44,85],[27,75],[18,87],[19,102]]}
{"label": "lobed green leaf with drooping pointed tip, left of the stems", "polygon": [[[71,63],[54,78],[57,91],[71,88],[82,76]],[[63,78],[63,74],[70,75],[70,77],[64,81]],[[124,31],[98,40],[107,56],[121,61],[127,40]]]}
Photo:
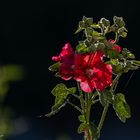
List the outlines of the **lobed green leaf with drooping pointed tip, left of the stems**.
{"label": "lobed green leaf with drooping pointed tip, left of the stems", "polygon": [[66,100],[69,94],[74,94],[76,87],[67,88],[63,83],[60,83],[54,87],[52,94],[55,96],[55,103],[51,108],[51,112],[46,116],[56,114],[62,107],[66,105]]}

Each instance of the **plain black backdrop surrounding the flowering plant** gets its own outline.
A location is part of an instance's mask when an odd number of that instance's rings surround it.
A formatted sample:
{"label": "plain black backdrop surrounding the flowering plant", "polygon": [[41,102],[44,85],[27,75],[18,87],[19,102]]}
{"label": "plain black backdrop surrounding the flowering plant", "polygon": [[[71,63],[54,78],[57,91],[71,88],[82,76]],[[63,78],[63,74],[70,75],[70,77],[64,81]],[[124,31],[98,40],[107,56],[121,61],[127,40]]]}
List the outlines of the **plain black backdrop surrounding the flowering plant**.
{"label": "plain black backdrop surrounding the flowering plant", "polygon": [[[38,118],[50,111],[54,102],[51,89],[61,79],[48,71],[53,64],[51,57],[70,42],[77,44],[74,35],[82,16],[93,17],[97,22],[114,15],[124,17],[128,36],[120,40],[122,47],[131,50],[140,60],[140,4],[127,0],[60,0],[60,1],[3,1],[0,4],[0,63],[24,66],[24,80],[11,83],[5,99],[5,106],[14,111],[15,129],[7,140],[80,140],[77,134],[78,113],[66,106],[52,118]],[[140,136],[140,71],[136,71],[125,87],[132,72],[124,75],[118,91],[126,94],[132,108],[132,118],[123,124],[112,108],[107,115],[101,140],[139,140]],[[71,86],[70,82],[66,82]],[[73,82],[72,82],[73,84]],[[124,88],[125,87],[125,88]],[[101,112],[96,110],[95,118]],[[96,122],[96,121],[95,121]],[[21,129],[22,126],[24,129]],[[64,138],[62,136],[65,135]],[[70,137],[70,138],[68,138]]]}

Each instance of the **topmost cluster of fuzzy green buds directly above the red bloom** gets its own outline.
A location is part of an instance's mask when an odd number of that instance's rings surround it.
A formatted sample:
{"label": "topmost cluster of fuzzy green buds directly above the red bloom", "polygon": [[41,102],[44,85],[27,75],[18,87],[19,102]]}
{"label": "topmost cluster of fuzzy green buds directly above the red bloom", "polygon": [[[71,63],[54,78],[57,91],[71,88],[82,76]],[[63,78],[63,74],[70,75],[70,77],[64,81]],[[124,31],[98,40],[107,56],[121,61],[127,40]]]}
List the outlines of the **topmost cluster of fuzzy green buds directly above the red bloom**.
{"label": "topmost cluster of fuzzy green buds directly above the red bloom", "polygon": [[[119,37],[127,36],[127,29],[122,17],[114,16],[113,21],[114,24],[111,25],[109,20],[101,18],[97,24],[93,23],[92,18],[84,16],[83,20],[79,22],[76,33],[84,31],[86,39],[79,42],[76,51],[85,53],[90,50],[103,50],[108,57],[114,58],[117,52],[114,52],[112,47],[118,42]],[[106,35],[110,32],[115,33],[115,42],[113,44],[108,42],[106,38]]]}

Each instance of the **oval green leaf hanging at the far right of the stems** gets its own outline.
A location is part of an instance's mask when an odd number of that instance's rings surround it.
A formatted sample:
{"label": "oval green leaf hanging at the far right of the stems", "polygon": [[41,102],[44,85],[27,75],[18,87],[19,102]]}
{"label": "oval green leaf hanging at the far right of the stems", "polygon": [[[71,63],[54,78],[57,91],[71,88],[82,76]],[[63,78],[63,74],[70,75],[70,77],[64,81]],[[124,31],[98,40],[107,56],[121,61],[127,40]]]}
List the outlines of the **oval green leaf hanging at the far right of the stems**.
{"label": "oval green leaf hanging at the far right of the stems", "polygon": [[113,102],[113,108],[122,122],[131,117],[131,110],[122,93],[116,94]]}

